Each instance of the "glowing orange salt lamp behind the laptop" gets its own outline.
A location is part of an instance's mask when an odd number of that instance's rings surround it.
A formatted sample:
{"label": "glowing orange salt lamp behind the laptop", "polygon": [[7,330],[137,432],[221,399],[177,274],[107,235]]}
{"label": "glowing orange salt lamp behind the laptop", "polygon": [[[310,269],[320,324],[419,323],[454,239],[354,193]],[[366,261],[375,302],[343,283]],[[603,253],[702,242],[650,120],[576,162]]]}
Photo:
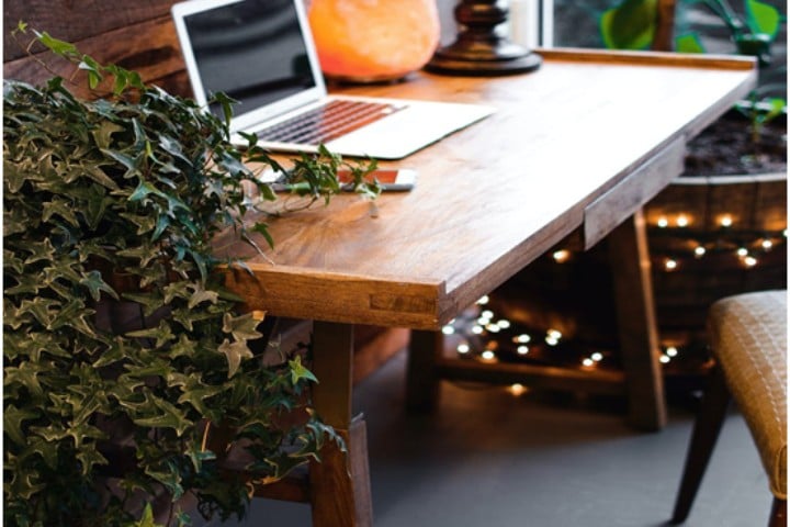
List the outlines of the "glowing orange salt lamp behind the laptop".
{"label": "glowing orange salt lamp behind the laptop", "polygon": [[313,0],[308,16],[321,70],[331,79],[400,79],[439,44],[435,0]]}

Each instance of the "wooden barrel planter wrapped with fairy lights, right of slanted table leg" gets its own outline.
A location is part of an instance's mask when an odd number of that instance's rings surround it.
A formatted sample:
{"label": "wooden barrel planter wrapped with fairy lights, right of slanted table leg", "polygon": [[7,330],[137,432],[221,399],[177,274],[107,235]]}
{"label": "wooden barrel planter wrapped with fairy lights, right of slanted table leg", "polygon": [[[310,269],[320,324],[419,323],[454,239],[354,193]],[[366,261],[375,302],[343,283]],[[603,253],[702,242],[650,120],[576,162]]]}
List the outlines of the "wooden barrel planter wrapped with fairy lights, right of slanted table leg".
{"label": "wooden barrel planter wrapped with fairy lights, right of slanted table leg", "polygon": [[679,178],[645,218],[666,343],[701,338],[716,299],[787,287],[785,173]]}

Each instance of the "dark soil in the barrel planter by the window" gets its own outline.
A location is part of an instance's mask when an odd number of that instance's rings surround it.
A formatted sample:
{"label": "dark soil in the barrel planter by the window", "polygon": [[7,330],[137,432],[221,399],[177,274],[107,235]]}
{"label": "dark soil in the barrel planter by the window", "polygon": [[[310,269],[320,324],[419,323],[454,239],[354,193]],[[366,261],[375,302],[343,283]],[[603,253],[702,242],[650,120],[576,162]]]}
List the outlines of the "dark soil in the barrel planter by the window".
{"label": "dark soil in the barrel planter by the window", "polygon": [[787,117],[768,122],[755,142],[748,120],[732,110],[688,144],[682,176],[785,172]]}

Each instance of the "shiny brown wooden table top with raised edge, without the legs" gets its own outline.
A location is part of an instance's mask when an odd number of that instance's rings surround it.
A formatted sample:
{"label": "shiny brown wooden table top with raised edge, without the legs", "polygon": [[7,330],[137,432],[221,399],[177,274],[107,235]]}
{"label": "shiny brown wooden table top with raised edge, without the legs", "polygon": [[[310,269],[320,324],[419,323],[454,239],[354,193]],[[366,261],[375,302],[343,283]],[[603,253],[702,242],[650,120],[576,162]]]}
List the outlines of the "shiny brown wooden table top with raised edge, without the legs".
{"label": "shiny brown wooden table top with raised edge, without the legs", "polygon": [[345,89],[484,103],[496,113],[382,162],[418,178],[410,192],[382,194],[375,216],[349,194],[272,218],[275,246],[266,258],[230,233],[218,236],[217,255],[248,257],[255,274],[229,271],[228,287],[247,309],[272,315],[437,329],[582,226],[591,204],[646,160],[682,146],[756,81],[754,60],[740,57],[540,53],[544,63],[531,74],[419,72]]}

